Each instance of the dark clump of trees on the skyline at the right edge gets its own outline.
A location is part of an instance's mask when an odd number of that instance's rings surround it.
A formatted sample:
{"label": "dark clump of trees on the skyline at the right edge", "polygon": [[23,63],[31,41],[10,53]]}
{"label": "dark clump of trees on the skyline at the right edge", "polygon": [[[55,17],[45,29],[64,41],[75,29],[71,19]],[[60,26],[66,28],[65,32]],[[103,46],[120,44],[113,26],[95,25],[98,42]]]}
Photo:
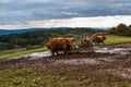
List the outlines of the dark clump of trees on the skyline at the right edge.
{"label": "dark clump of trees on the skyline at the right edge", "polygon": [[119,24],[117,27],[110,28],[109,34],[131,37],[131,25]]}

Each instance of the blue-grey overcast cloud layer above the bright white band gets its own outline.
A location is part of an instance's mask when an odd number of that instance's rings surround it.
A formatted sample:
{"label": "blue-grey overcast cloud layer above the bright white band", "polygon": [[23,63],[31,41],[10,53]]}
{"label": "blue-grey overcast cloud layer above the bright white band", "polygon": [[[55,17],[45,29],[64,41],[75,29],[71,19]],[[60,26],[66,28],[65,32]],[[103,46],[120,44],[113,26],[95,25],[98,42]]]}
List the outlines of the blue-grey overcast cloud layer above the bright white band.
{"label": "blue-grey overcast cloud layer above the bright white band", "polygon": [[0,28],[28,26],[36,21],[116,15],[131,15],[131,0],[0,0]]}

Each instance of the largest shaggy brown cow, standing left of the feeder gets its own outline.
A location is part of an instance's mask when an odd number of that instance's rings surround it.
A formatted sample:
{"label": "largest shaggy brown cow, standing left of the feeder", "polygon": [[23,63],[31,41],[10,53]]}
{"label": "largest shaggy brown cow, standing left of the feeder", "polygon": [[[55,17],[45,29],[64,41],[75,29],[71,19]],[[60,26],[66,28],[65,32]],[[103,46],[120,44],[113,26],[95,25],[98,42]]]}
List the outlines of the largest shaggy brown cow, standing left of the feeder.
{"label": "largest shaggy brown cow, standing left of the feeder", "polygon": [[52,55],[55,53],[58,54],[58,51],[64,51],[67,53],[69,50],[71,50],[71,44],[73,44],[73,39],[71,38],[50,38],[50,51]]}

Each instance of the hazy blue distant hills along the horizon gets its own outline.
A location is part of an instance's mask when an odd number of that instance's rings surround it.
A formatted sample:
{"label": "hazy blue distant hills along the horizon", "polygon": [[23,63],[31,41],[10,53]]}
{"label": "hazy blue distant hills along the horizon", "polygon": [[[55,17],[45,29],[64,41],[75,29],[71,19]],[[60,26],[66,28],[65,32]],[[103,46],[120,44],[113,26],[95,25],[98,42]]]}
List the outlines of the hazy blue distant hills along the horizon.
{"label": "hazy blue distant hills along the horizon", "polygon": [[[0,36],[1,35],[10,35],[10,34],[21,34],[21,33],[27,33],[27,32],[37,32],[37,30],[58,30],[58,29],[67,29],[69,27],[56,27],[56,28],[26,28],[26,29],[0,29]],[[102,30],[108,30],[109,28],[94,28],[94,29],[102,29]]]}

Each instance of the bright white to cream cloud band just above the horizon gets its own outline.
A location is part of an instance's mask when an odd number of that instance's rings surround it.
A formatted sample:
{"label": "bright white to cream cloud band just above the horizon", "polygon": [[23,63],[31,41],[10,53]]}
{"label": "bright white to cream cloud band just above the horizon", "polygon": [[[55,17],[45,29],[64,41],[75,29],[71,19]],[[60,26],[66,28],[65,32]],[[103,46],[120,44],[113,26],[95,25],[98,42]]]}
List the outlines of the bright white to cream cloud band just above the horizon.
{"label": "bright white to cream cloud band just above the horizon", "polygon": [[26,24],[0,25],[3,29],[49,27],[114,27],[120,23],[131,25],[131,15],[73,17],[64,20],[29,21]]}

